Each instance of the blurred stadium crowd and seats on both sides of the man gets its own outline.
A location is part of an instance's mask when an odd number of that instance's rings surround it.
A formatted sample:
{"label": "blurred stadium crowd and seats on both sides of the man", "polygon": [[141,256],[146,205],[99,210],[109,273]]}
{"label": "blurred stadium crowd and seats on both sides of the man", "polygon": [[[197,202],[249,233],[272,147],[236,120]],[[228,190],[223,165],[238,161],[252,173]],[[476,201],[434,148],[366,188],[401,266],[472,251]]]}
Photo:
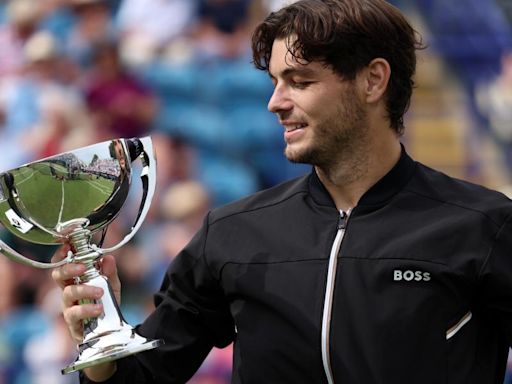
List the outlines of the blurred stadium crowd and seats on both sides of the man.
{"label": "blurred stadium crowd and seats on both sides of the man", "polygon": [[[209,209],[309,171],[284,159],[282,128],[266,110],[271,82],[251,65],[253,26],[286,2],[0,0],[1,171],[111,138],[153,137],[157,193],[117,258],[131,324],[151,310],[167,265]],[[392,3],[428,45],[406,117],[408,152],[510,193],[512,1]],[[107,243],[128,232],[138,198]],[[2,237],[37,260],[53,252]],[[60,375],[76,351],[59,295],[49,272],[0,257],[0,384],[77,382]],[[214,350],[190,383],[229,383],[230,368],[230,347]]]}

